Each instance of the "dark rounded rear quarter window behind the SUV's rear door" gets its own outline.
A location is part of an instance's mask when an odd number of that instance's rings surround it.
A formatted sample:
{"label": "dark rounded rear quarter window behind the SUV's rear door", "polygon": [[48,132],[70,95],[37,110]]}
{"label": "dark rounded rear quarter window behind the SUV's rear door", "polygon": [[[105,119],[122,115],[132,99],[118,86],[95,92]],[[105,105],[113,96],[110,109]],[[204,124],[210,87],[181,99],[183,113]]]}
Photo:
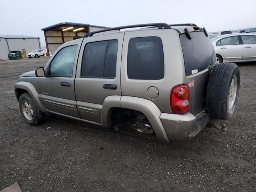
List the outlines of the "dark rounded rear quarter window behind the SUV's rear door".
{"label": "dark rounded rear quarter window behind the SUV's rear door", "polygon": [[164,53],[159,37],[132,38],[128,44],[127,74],[129,79],[162,79]]}

